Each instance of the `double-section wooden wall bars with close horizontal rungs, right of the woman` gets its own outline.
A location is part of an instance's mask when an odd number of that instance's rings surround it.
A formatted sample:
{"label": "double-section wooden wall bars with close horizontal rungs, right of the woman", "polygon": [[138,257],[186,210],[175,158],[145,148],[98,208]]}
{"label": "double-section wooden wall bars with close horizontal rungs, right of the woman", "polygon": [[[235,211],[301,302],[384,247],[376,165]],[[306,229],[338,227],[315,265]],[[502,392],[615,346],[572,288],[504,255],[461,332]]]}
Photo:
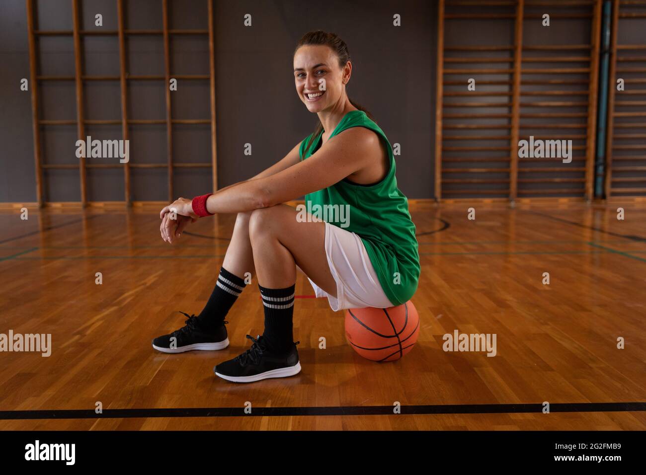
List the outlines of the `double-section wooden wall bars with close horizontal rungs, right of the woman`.
{"label": "double-section wooden wall bars with close horizontal rungs, right of the woman", "polygon": [[[544,13],[556,24],[550,28],[567,22],[575,37],[589,28],[589,43],[555,43],[547,27],[537,34]],[[436,197],[592,198],[601,0],[444,0],[438,16]],[[452,28],[461,27],[454,22],[463,19],[471,20],[474,44],[464,44],[467,35],[452,35]],[[534,27],[532,34],[525,34],[525,26]],[[477,28],[503,28],[512,41],[487,43]],[[456,52],[477,55],[467,62]],[[476,79],[475,91],[466,91],[469,77]],[[518,142],[530,135],[572,140],[572,162],[519,159]]]}

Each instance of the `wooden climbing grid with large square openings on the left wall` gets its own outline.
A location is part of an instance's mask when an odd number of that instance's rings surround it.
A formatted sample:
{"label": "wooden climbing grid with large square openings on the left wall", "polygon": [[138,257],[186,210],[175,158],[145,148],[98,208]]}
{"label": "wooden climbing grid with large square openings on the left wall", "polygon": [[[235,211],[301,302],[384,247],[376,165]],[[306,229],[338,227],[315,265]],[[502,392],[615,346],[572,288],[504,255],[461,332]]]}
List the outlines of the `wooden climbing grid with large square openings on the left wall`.
{"label": "wooden climbing grid with large square openings on the left wall", "polygon": [[[215,126],[215,61],[214,61],[214,26],[213,26],[213,0],[203,0],[205,2],[205,11],[209,15],[208,29],[178,29],[171,28],[171,14],[169,0],[161,1],[163,27],[159,30],[137,30],[127,28],[127,18],[125,14],[125,3],[128,0],[114,0],[116,3],[117,24],[116,30],[83,30],[81,25],[81,14],[83,0],[70,0],[72,2],[72,30],[38,30],[36,25],[36,0],[26,1],[28,39],[29,39],[29,61],[30,61],[30,89],[32,96],[32,121],[34,127],[34,160],[36,162],[36,192],[39,206],[52,205],[54,203],[46,200],[47,189],[43,185],[43,170],[47,169],[79,169],[80,196],[78,204],[80,206],[103,205],[103,202],[89,202],[87,190],[86,170],[92,169],[109,169],[123,167],[124,180],[124,203],[130,206],[132,201],[132,185],[130,183],[130,169],[167,169],[167,186],[168,199],[174,200],[173,191],[173,170],[175,168],[198,168],[212,167],[213,169],[213,189],[217,189],[217,160],[216,160],[216,126]],[[161,36],[164,45],[164,74],[161,75],[131,75],[127,70],[127,37],[128,36]],[[209,74],[172,74],[171,65],[171,36],[173,35],[201,35],[208,38],[209,48]],[[39,63],[39,44],[38,37],[41,36],[69,36],[72,38],[74,45],[74,76],[50,76],[38,74]],[[119,45],[119,72],[113,76],[90,76],[83,70],[83,37],[85,36],[114,36],[118,39]],[[210,105],[211,112],[208,119],[173,119],[171,114],[171,90],[169,89],[169,79],[175,78],[180,80],[208,80],[210,85]],[[74,81],[76,89],[76,120],[70,118],[47,119],[40,118],[40,96],[39,82],[41,81]],[[85,118],[85,97],[83,94],[83,81],[119,81],[120,82],[120,108],[121,118],[119,120],[88,120]],[[165,119],[129,119],[128,118],[128,100],[129,100],[129,81],[164,81],[165,83],[165,102],[166,116]],[[130,154],[130,162],[125,164],[87,164],[86,158],[79,158],[78,164],[47,164],[47,157],[43,158],[41,149],[41,127],[43,125],[76,125],[77,135],[80,139],[85,140],[85,125],[121,125],[123,140],[129,140],[129,127],[132,125],[148,124],[165,124],[168,145],[167,160],[165,163],[149,164],[138,163],[137,156]],[[172,160],[172,125],[173,124],[209,124],[211,125],[211,160],[209,162],[198,163],[174,163]],[[112,140],[113,138],[110,138]],[[73,144],[72,144],[73,145]],[[71,147],[70,147],[71,148]],[[132,150],[132,147],[131,147]],[[110,203],[110,202],[107,202]],[[111,202],[118,204],[120,202]],[[68,206],[68,203],[65,203]]]}

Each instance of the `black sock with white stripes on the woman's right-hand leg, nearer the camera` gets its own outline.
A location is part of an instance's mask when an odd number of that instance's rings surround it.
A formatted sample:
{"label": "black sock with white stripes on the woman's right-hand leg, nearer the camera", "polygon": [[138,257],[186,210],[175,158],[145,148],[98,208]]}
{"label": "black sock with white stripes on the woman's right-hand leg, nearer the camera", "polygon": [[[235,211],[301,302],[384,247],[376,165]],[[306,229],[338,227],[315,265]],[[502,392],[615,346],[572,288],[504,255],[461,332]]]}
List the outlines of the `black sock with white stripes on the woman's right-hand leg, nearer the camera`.
{"label": "black sock with white stripes on the woman's right-hand leg, nearer the camera", "polygon": [[271,352],[287,353],[294,344],[292,317],[296,284],[285,289],[267,289],[258,284],[258,288],[265,309],[263,341]]}

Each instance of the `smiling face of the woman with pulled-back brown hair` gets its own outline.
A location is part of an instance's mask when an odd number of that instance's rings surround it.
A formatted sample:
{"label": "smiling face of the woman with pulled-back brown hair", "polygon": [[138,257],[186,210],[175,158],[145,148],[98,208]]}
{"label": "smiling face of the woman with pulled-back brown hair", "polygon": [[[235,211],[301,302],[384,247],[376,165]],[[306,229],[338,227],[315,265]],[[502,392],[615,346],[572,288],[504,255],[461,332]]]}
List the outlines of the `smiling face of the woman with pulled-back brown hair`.
{"label": "smiling face of the woman with pulled-back brown hair", "polygon": [[294,55],[294,82],[298,97],[309,112],[320,112],[339,103],[350,78],[350,62],[342,69],[332,48],[305,45]]}

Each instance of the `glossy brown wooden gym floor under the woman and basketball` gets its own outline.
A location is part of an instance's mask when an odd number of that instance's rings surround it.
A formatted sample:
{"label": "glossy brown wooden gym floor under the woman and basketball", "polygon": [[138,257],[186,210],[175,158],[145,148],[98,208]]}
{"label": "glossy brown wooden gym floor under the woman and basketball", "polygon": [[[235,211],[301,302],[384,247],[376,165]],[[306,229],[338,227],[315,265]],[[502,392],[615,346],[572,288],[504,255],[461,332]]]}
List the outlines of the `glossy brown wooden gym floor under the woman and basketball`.
{"label": "glossy brown wooden gym floor under the woman and basketball", "polygon": [[[422,263],[412,352],[395,363],[359,357],[344,337],[344,311],[307,298],[299,273],[303,370],[249,385],[212,370],[249,347],[245,334],[262,333],[256,280],[227,316],[229,348],[152,349],[153,337],[182,326],[179,310],[202,309],[234,222],[200,220],[171,247],[157,212],[47,209],[26,221],[0,213],[0,333],[52,334],[50,357],[0,353],[0,429],[646,428],[646,204],[412,207]],[[444,352],[442,335],[456,329],[496,333],[497,355]],[[392,414],[395,401],[402,414]],[[536,410],[543,401],[550,414]],[[557,410],[565,403],[574,406]],[[307,409],[317,407],[328,409]],[[111,412],[119,409],[127,411]]]}

